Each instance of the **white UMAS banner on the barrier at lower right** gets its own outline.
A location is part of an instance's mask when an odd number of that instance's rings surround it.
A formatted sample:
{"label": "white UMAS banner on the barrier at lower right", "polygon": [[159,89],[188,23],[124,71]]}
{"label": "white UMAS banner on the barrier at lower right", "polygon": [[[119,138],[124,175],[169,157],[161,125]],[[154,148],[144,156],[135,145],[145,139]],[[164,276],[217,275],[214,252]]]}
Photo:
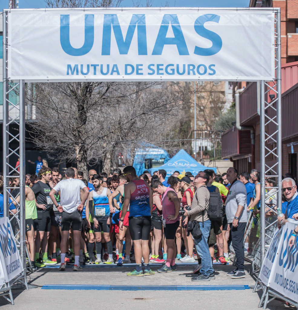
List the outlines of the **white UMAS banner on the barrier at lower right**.
{"label": "white UMAS banner on the barrier at lower right", "polygon": [[291,248],[288,244],[296,226],[297,224],[286,223],[282,229],[276,230],[262,264],[259,279],[269,288],[297,302],[298,238],[296,237]]}

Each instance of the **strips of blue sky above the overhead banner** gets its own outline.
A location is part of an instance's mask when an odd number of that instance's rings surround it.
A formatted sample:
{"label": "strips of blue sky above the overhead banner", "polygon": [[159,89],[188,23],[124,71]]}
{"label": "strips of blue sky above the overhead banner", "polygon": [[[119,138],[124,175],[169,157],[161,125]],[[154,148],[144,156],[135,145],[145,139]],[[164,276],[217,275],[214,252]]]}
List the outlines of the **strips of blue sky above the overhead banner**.
{"label": "strips of blue sky above the overhead banner", "polygon": [[[140,2],[140,7],[146,6],[146,0],[123,0],[121,7],[133,7]],[[248,7],[249,0],[153,0],[152,7],[161,7],[165,4],[169,7]],[[20,9],[44,8],[44,0],[19,0]],[[8,0],[0,0],[0,12],[9,8]]]}

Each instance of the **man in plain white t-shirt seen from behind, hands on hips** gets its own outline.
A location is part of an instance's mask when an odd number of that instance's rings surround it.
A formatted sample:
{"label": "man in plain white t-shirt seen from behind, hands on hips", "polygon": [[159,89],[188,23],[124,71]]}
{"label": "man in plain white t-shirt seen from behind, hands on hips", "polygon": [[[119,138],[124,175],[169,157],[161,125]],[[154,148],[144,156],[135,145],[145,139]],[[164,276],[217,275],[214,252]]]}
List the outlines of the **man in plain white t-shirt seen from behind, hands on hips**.
{"label": "man in plain white t-shirt seen from behind, hands on hips", "polygon": [[[54,202],[56,208],[62,213],[61,218],[61,265],[59,270],[65,270],[65,252],[66,242],[68,239],[68,231],[73,229],[73,241],[74,241],[74,253],[75,264],[73,266],[74,271],[82,270],[83,268],[79,264],[80,255],[80,238],[81,238],[81,226],[82,226],[82,214],[85,201],[89,195],[89,189],[82,180],[74,179],[75,170],[68,168],[65,171],[66,180],[62,180],[55,185],[50,192],[50,197]],[[84,191],[82,200],[80,197],[81,189]],[[61,200],[60,206],[58,205],[55,194],[60,192]]]}

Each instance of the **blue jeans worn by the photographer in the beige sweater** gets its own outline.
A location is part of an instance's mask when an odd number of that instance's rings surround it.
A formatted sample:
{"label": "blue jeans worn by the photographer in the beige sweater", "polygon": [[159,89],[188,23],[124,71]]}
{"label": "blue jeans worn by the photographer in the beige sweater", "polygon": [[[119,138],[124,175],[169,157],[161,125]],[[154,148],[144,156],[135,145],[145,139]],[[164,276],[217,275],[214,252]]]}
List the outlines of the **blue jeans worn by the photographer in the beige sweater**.
{"label": "blue jeans worn by the photographer in the beige sweater", "polygon": [[204,276],[209,276],[211,273],[214,272],[214,269],[212,267],[211,255],[209,252],[209,246],[207,242],[211,228],[211,221],[209,219],[208,221],[204,221],[204,227],[202,222],[199,222],[199,224],[202,236],[199,237],[198,239],[194,238],[195,248],[200,258],[202,259],[202,268],[200,270],[200,273],[203,274]]}

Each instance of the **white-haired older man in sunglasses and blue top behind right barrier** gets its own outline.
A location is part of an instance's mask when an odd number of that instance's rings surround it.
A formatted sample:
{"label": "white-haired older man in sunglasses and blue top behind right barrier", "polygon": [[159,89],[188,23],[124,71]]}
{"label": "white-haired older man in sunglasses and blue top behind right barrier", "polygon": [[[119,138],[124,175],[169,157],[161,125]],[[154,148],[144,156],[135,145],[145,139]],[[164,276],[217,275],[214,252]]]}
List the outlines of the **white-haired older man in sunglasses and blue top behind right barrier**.
{"label": "white-haired older man in sunglasses and blue top behind right barrier", "polygon": [[283,204],[283,217],[278,217],[278,227],[288,222],[287,219],[295,218],[294,215],[298,213],[298,193],[295,180],[292,178],[285,178],[282,182],[282,192],[287,199],[287,203]]}

